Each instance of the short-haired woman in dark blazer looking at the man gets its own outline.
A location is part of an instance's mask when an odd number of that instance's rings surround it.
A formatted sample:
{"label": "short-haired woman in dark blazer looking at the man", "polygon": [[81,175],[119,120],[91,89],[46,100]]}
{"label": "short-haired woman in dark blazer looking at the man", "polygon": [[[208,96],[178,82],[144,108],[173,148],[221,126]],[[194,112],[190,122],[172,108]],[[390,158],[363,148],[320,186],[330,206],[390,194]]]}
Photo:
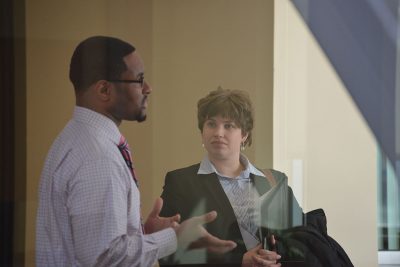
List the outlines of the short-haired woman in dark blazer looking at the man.
{"label": "short-haired woman in dark blazer looking at the man", "polygon": [[[207,154],[199,164],[167,173],[161,216],[179,213],[184,220],[215,210],[217,219],[205,227],[238,246],[224,255],[207,252],[203,258],[190,257],[184,262],[280,266],[280,256],[262,249],[259,235],[258,200],[271,184],[241,153],[252,141],[253,109],[248,95],[218,88],[200,99],[197,106],[198,127]],[[272,172],[277,181],[287,179],[283,173]],[[181,255],[175,255],[161,261],[161,265],[177,264],[180,259]]]}

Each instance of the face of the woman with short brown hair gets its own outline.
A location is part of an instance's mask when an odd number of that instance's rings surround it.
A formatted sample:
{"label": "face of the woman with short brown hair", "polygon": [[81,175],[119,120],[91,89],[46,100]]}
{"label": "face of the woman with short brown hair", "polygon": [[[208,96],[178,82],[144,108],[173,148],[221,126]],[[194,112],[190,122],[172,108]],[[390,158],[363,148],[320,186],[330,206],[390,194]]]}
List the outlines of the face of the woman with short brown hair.
{"label": "face of the woman with short brown hair", "polygon": [[231,119],[219,115],[204,122],[202,140],[210,159],[226,160],[236,157],[239,160],[240,144],[246,138],[247,135],[243,135],[242,129]]}

